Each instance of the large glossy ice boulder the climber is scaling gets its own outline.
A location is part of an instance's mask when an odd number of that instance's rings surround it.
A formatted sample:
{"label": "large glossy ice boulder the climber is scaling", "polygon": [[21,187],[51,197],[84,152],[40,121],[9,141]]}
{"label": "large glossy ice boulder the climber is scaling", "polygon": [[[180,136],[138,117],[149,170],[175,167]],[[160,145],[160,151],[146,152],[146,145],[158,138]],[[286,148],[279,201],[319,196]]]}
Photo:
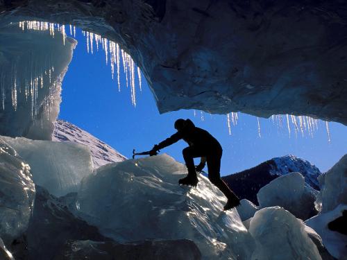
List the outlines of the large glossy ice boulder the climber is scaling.
{"label": "large glossy ice boulder the climber is scaling", "polygon": [[203,259],[249,259],[253,239],[236,209],[206,177],[197,188],[180,187],[187,174],[168,155],[101,166],[85,177],[77,205],[101,233],[116,241],[190,239]]}

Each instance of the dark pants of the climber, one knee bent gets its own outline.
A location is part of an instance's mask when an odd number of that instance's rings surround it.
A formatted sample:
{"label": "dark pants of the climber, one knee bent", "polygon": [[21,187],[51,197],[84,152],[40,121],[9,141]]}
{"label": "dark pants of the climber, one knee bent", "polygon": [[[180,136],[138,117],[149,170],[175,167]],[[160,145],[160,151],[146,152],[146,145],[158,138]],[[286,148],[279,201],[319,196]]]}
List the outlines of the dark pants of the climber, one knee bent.
{"label": "dark pants of the climber, one knee bent", "polygon": [[221,180],[221,155],[223,150],[220,146],[199,148],[197,146],[188,146],[183,149],[183,158],[188,169],[188,175],[196,176],[194,158],[206,157],[208,163],[208,179],[214,184],[228,199],[235,199],[235,193],[231,191],[228,185]]}

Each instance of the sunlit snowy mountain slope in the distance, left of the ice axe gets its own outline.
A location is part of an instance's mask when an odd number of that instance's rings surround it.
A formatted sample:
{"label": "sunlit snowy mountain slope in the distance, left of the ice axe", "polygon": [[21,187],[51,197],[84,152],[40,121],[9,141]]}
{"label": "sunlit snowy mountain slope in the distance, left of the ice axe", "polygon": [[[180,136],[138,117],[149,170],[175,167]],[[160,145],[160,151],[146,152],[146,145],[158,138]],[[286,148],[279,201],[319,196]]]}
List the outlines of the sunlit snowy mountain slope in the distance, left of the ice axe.
{"label": "sunlit snowy mountain slope in the distance, left of the ice axe", "polygon": [[90,135],[89,132],[85,132],[85,130],[78,128],[72,123],[58,120],[54,125],[55,128],[52,135],[52,141],[72,141],[78,144],[84,144],[90,148],[94,168],[99,168],[100,166],[110,164],[111,162],[123,162],[127,159],[124,155],[121,155],[108,144],[105,144],[103,141]]}

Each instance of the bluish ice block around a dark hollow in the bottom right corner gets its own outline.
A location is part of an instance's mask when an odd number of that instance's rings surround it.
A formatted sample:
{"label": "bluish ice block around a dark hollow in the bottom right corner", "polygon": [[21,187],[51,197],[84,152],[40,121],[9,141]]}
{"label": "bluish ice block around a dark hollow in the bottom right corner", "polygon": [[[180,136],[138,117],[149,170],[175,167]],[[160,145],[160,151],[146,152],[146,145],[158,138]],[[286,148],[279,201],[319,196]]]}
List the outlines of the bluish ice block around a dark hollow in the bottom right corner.
{"label": "bluish ice block around a dark hollow in the bottom right corner", "polygon": [[347,236],[330,230],[328,225],[333,220],[341,217],[344,210],[347,210],[347,205],[339,205],[332,211],[319,214],[305,221],[307,226],[312,227],[321,236],[325,248],[337,259],[346,259]]}

